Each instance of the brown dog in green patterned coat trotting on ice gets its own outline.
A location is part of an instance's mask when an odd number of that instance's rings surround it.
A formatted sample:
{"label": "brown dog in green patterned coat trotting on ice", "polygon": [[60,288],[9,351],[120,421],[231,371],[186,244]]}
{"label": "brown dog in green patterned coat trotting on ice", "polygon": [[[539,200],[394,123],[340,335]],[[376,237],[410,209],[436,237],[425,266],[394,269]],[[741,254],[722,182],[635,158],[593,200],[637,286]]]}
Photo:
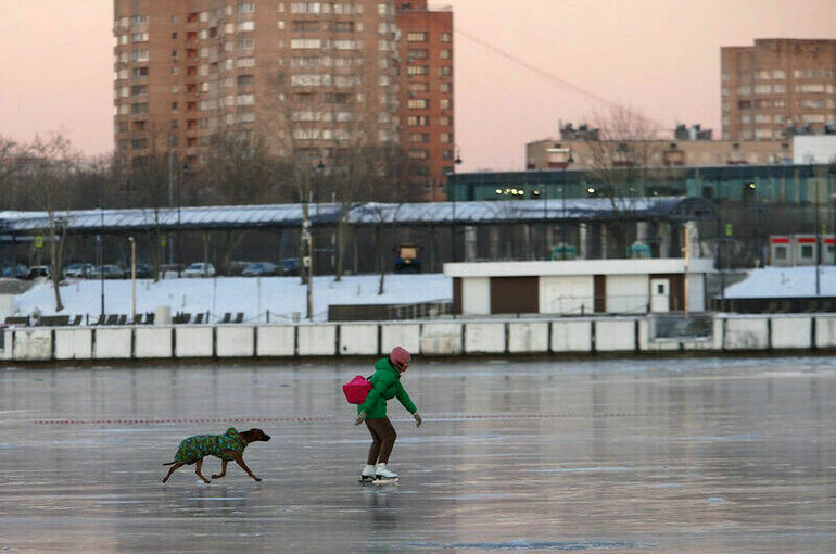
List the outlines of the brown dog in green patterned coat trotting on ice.
{"label": "brown dog in green patterned coat trotting on ice", "polygon": [[194,464],[194,473],[198,477],[203,479],[204,482],[211,482],[201,474],[201,466],[203,466],[203,458],[205,456],[215,456],[220,458],[220,473],[213,475],[213,479],[220,479],[227,475],[227,463],[230,459],[235,459],[241,469],[246,471],[246,475],[261,481],[253,475],[246,464],[244,464],[243,453],[244,449],[251,442],[270,440],[270,436],[262,431],[261,429],[250,429],[249,431],[238,432],[235,427],[227,429],[224,435],[195,435],[183,439],[180,442],[180,446],[177,449],[174,459],[164,466],[172,466],[168,469],[168,475],[163,477],[163,482],[166,482],[172,474],[182,466]]}

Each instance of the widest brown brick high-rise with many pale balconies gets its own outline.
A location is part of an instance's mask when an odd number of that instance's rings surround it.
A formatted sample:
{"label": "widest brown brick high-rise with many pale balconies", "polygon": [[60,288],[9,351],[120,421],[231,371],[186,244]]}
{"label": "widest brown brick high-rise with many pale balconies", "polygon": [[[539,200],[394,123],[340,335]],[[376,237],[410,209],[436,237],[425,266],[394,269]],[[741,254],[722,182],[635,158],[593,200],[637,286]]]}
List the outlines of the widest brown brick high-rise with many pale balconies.
{"label": "widest brown brick high-rise with many pale balconies", "polygon": [[113,32],[126,163],[170,151],[199,166],[227,131],[312,167],[397,143],[392,0],[114,0]]}

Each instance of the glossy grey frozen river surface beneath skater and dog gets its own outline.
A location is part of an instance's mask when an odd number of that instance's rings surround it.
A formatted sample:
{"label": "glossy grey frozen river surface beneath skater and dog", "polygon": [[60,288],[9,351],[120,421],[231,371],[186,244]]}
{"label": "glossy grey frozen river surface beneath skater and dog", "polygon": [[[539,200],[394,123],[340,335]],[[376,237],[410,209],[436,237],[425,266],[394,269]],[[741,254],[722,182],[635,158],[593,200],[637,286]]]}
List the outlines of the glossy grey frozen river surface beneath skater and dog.
{"label": "glossy grey frozen river surface beneath skater and dog", "polygon": [[[0,552],[836,551],[836,358],[419,358],[364,488],[368,367],[0,369]],[[160,482],[230,425],[262,482]]]}

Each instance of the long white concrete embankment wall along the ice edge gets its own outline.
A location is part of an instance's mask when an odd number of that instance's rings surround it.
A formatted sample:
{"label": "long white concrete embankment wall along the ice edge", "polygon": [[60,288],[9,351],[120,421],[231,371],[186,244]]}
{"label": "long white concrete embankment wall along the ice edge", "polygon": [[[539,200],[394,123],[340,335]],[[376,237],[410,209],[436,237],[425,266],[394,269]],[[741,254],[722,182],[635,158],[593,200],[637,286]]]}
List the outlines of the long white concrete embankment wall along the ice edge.
{"label": "long white concrete embankment wall along the ice edge", "polygon": [[[815,337],[811,338],[815,318]],[[385,354],[536,354],[836,349],[836,315],[721,315],[706,339],[653,339],[651,322],[635,318],[487,319],[432,323],[176,326],[7,329],[0,360],[127,360],[291,357]],[[339,345],[338,340],[339,329]],[[636,329],[638,335],[636,336]],[[771,329],[771,331],[770,331]],[[594,337],[593,337],[594,333]],[[380,341],[378,341],[380,337]],[[814,339],[814,340],[813,340]],[[175,344],[173,352],[173,342]],[[379,343],[378,343],[379,342]],[[132,352],[131,352],[132,350]]]}

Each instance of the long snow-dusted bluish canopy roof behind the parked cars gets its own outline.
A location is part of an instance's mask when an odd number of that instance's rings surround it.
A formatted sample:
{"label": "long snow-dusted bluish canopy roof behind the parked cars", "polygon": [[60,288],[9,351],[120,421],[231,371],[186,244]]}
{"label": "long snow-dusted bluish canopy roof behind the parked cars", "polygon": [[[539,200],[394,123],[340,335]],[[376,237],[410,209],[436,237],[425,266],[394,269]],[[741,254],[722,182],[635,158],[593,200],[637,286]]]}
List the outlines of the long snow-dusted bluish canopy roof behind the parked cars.
{"label": "long snow-dusted bluish canopy roof behind the parked cars", "polygon": [[[230,229],[299,227],[304,204],[199,206],[128,210],[74,210],[56,212],[60,225],[77,234],[129,232],[160,227],[172,229]],[[339,203],[309,204],[314,226],[335,225]],[[358,202],[349,210],[353,226],[379,223],[398,225],[490,224],[561,219],[633,221],[648,218],[701,218],[713,213],[699,198],[651,197],[637,199],[555,199],[471,202],[380,203]],[[0,234],[26,235],[49,228],[47,212],[0,212]]]}

